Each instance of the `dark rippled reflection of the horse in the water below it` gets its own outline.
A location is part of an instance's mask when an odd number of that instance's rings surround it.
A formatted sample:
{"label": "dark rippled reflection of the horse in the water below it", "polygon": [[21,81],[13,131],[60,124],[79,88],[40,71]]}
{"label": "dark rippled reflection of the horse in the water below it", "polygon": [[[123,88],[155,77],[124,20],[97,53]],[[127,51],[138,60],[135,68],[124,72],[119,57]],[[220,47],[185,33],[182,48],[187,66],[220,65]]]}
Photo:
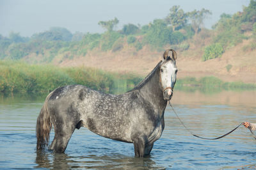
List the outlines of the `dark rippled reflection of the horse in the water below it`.
{"label": "dark rippled reflection of the horse in the water below it", "polygon": [[34,168],[53,169],[163,169],[152,158],[126,157],[124,155],[88,155],[80,157],[68,156],[66,153],[51,153],[49,151],[36,151],[37,164]]}

